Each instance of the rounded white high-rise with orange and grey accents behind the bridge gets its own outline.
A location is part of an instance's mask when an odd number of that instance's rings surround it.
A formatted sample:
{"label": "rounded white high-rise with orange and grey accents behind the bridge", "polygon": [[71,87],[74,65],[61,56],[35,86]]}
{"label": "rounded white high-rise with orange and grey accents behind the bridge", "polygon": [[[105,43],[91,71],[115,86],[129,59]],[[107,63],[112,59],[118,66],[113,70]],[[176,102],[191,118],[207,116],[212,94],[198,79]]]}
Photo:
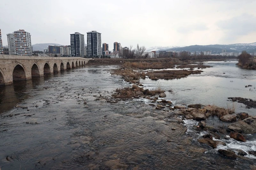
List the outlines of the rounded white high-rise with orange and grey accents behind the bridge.
{"label": "rounded white high-rise with orange and grey accents behind the bridge", "polygon": [[17,55],[32,55],[31,35],[25,30],[14,31]]}

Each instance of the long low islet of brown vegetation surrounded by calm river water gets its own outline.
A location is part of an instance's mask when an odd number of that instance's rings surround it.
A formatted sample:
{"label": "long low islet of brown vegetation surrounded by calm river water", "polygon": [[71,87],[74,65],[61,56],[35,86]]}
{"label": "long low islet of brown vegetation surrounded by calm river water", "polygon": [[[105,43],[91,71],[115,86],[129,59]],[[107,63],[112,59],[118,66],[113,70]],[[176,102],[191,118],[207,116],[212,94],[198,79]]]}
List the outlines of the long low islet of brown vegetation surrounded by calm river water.
{"label": "long low islet of brown vegetation surrounded by calm river water", "polygon": [[161,70],[161,71],[153,71],[148,72],[147,76],[151,80],[158,80],[158,79],[175,79],[175,78],[184,78],[190,74],[200,74],[203,72],[202,70]]}

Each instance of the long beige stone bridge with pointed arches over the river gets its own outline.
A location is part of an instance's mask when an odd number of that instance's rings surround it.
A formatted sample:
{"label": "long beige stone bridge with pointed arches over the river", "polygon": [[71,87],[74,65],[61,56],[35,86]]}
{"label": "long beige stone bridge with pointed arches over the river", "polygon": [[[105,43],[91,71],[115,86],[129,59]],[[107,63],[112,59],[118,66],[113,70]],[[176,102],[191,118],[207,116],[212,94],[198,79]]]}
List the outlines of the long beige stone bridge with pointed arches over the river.
{"label": "long beige stone bridge with pointed arches over the river", "polygon": [[26,80],[60,70],[84,66],[90,59],[82,57],[38,57],[26,55],[0,55],[0,85],[13,80]]}

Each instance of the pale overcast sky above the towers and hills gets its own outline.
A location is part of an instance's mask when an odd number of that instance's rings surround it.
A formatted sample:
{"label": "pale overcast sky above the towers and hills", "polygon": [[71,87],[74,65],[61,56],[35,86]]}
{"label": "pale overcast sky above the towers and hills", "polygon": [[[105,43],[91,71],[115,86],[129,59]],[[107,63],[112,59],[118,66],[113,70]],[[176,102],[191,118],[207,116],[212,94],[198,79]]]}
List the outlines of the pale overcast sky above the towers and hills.
{"label": "pale overcast sky above the towers and hills", "polygon": [[[255,0],[2,0],[0,29],[31,33],[32,44],[70,45],[70,34],[96,30],[102,43],[189,46],[256,41]],[[85,42],[86,43],[86,42]]]}

